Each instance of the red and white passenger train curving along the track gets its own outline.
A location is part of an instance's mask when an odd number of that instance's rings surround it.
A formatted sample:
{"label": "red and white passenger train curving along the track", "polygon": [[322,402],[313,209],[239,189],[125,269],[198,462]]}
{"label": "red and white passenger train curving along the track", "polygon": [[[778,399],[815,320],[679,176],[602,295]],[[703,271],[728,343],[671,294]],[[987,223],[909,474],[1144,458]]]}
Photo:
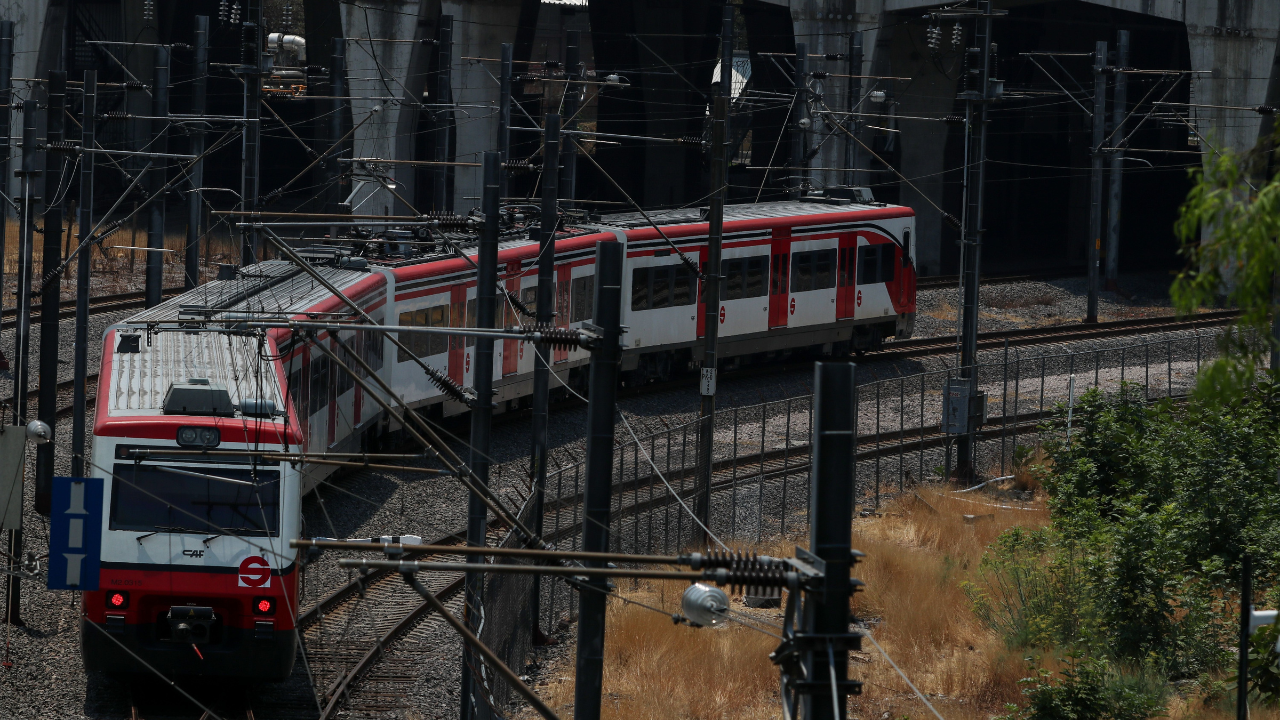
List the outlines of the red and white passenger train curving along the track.
{"label": "red and white passenger train curving along the track", "polygon": [[[658,213],[655,220],[687,256],[705,258],[708,225],[696,210]],[[847,355],[874,350],[886,337],[910,336],[913,231],[909,208],[874,202],[726,208],[722,363],[796,351]],[[454,241],[474,252],[474,236]],[[704,318],[696,275],[640,217],[604,217],[557,236],[557,324],[580,327],[591,319],[598,242],[626,245],[626,382],[664,378],[696,364]],[[456,251],[367,252],[374,247],[366,245],[364,258],[333,251],[307,256],[375,322],[475,324],[475,270]],[[529,307],[536,255],[538,243],[527,232],[504,233],[499,278]],[[518,324],[509,305],[498,325]],[[333,318],[325,314],[347,311],[301,269],[273,260],[106,331],[92,470],[109,482],[102,589],[83,593],[87,669],[142,671],[136,655],[173,675],[289,674],[297,650],[300,557],[288,541],[301,532],[302,496],[333,468],[175,451],[358,452],[397,428],[351,377],[288,331],[259,337],[183,332],[182,322]],[[343,336],[410,406],[438,416],[465,411],[380,333]],[[317,341],[333,343],[326,334]],[[471,384],[471,341],[421,333],[404,343],[424,363]],[[556,350],[552,360],[562,382],[585,384],[586,351]],[[530,346],[495,343],[499,411],[531,395],[532,369]]]}

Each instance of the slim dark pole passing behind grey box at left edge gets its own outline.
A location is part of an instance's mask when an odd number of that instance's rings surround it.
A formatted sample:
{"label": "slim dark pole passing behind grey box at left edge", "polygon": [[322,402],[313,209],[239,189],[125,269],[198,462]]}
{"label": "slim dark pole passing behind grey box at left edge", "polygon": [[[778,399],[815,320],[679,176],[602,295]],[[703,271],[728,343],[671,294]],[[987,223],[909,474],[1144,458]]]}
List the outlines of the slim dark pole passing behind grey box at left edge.
{"label": "slim dark pole passing behind grey box at left edge", "polygon": [[[31,384],[31,368],[27,360],[31,357],[31,264],[35,243],[35,200],[31,183],[40,174],[36,169],[36,113],[35,100],[26,100],[22,104],[22,233],[18,246],[18,328],[14,337],[14,424],[26,425],[31,419],[27,416],[27,395]],[[22,557],[22,530],[10,530],[9,557]],[[9,575],[9,597],[5,605],[10,625],[23,625],[22,621],[22,580],[17,575]]]}

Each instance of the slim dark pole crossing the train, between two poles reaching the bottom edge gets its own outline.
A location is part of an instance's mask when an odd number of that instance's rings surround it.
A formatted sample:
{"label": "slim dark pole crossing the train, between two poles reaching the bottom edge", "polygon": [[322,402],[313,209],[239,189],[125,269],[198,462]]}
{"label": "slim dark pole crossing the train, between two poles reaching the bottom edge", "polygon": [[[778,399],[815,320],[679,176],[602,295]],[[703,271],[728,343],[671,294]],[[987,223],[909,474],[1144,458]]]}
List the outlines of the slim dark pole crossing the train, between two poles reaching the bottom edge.
{"label": "slim dark pole crossing the train, between two poles reaching the bottom edge", "polygon": [[[559,115],[550,113],[544,120],[543,131],[543,218],[538,243],[538,301],[534,305],[540,328],[550,328],[556,323],[556,225],[559,210],[556,200],[559,193],[559,172],[556,160],[559,158]],[[550,429],[550,359],[552,346],[543,342],[534,354],[534,418],[530,452],[534,477],[534,533],[543,534],[543,505],[547,501],[547,436]],[[541,629],[538,616],[541,609],[541,577],[534,575],[532,612],[534,637]]]}

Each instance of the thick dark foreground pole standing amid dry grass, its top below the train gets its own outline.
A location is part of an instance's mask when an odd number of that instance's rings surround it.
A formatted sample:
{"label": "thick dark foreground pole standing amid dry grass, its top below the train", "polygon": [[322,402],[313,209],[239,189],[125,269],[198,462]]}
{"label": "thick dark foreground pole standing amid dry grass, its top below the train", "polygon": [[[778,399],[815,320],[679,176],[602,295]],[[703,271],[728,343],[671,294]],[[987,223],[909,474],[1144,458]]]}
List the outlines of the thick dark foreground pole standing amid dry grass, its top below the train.
{"label": "thick dark foreground pole standing amid dry grass, its top below the train", "polygon": [[[826,587],[805,597],[805,630],[815,635],[849,633],[850,550],[854,524],[854,486],[849,468],[854,464],[858,366],[850,363],[817,363],[813,372],[813,488],[809,492],[809,551],[826,562]],[[808,653],[808,676],[832,678],[836,687],[805,696],[804,717],[840,720],[845,715],[849,689],[849,652],[828,655],[823,647]],[[829,670],[828,670],[829,667]],[[832,697],[835,696],[835,697]],[[837,710],[838,708],[838,710]]]}

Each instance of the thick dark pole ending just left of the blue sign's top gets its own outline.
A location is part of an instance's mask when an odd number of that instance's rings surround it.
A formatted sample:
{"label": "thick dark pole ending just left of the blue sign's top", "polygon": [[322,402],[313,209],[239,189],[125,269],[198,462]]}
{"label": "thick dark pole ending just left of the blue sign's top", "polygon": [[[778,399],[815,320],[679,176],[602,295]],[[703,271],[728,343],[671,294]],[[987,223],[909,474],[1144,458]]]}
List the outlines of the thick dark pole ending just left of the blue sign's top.
{"label": "thick dark pole ending just left of the blue sign's top", "polygon": [[[63,141],[63,109],[67,106],[67,72],[49,72],[49,111],[45,117],[45,137],[49,143]],[[38,418],[50,430],[58,421],[58,306],[61,301],[61,283],[56,279],[63,263],[63,206],[58,191],[63,183],[67,155],[45,152],[45,247],[41,278],[54,275],[54,282],[44,283],[40,313],[40,398]],[[36,447],[36,512],[49,515],[54,488],[55,442]]]}

